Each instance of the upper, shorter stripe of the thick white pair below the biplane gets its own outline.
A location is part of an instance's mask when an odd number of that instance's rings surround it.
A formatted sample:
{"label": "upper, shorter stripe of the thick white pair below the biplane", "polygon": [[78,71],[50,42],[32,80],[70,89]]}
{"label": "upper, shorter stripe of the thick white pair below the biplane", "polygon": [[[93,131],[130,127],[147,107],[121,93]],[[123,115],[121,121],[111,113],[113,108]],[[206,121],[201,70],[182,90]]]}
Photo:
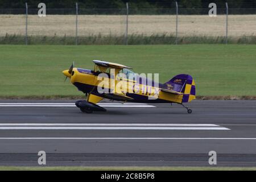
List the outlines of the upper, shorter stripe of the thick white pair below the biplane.
{"label": "upper, shorter stripe of the thick white pair below the biplane", "polygon": [[0,126],[219,126],[186,123],[0,123]]}

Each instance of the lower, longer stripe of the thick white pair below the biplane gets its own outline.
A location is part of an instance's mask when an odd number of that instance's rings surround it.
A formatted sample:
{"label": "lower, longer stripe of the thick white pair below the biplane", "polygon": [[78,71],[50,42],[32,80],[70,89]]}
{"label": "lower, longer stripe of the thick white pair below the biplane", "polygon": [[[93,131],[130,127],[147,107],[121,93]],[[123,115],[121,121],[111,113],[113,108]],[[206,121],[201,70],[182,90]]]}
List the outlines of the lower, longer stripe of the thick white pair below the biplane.
{"label": "lower, longer stripe of the thick white pair below the biplane", "polygon": [[0,127],[0,130],[229,130],[226,127]]}

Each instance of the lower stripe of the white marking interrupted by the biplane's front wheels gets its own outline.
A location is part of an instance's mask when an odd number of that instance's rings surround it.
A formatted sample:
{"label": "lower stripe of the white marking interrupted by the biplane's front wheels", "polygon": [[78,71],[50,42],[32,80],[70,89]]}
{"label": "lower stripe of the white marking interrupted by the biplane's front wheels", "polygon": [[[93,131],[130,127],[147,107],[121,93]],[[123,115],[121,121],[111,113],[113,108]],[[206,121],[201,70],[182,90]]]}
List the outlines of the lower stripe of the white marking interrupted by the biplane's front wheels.
{"label": "lower stripe of the white marking interrupted by the biplane's front wheels", "polygon": [[[152,105],[101,105],[102,107],[155,107]],[[76,107],[76,105],[0,105],[0,107]]]}

